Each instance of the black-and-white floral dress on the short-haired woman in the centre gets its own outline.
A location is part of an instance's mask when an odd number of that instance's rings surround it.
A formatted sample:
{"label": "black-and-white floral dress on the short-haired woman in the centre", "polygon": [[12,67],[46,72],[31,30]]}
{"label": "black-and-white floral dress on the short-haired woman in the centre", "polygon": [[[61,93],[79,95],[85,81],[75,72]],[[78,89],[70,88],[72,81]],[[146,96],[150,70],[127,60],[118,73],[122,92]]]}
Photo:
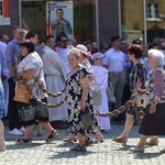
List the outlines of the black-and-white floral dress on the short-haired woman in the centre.
{"label": "black-and-white floral dress on the short-haired woman in the centre", "polygon": [[80,80],[85,77],[88,77],[89,73],[82,67],[79,67],[77,72],[68,77],[66,80],[67,84],[67,109],[68,109],[68,131],[74,134],[85,135],[90,131],[98,131],[98,121],[94,113],[92,99],[90,97],[90,91],[87,97],[86,105],[91,112],[91,118],[94,120],[94,127],[84,129],[81,119],[80,119],[80,99],[82,94],[82,86]]}

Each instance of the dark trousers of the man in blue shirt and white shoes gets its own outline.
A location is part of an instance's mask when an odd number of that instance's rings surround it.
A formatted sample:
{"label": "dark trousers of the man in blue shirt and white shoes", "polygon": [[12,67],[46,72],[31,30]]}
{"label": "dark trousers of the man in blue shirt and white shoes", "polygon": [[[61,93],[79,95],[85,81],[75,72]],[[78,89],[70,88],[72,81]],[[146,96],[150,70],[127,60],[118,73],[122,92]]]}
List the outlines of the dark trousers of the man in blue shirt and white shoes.
{"label": "dark trousers of the man in blue shirt and white shoes", "polygon": [[16,108],[16,102],[13,101],[15,94],[15,82],[13,78],[8,79],[9,84],[9,107],[8,107],[8,120],[9,120],[9,130],[20,129],[22,125],[20,123],[19,112]]}

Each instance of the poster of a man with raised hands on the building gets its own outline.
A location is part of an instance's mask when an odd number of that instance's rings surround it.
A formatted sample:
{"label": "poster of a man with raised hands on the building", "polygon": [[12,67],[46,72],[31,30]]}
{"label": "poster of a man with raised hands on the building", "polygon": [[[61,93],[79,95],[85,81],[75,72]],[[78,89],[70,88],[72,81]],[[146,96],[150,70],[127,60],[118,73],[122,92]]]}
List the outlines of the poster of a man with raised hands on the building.
{"label": "poster of a man with raised hands on the building", "polygon": [[46,33],[74,37],[73,1],[46,2]]}

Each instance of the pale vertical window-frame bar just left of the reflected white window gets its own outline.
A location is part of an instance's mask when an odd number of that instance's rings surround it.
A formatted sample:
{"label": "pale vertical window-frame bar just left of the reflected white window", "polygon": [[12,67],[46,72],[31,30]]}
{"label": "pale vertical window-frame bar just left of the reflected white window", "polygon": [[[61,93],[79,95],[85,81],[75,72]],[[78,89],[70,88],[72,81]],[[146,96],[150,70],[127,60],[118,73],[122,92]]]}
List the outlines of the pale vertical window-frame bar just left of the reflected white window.
{"label": "pale vertical window-frame bar just left of the reflected white window", "polygon": [[147,45],[147,29],[146,29],[146,0],[143,0],[143,20],[144,20],[144,41],[143,44]]}

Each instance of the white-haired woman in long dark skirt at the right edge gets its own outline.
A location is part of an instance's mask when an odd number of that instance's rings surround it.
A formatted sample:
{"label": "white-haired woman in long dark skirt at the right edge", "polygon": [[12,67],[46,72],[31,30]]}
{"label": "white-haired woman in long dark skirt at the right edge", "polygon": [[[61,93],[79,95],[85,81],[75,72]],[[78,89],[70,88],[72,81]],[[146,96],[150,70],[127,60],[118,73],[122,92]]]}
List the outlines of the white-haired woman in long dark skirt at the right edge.
{"label": "white-haired woman in long dark skirt at the right edge", "polygon": [[147,107],[140,125],[141,139],[134,152],[144,152],[147,135],[165,135],[165,72],[164,55],[158,50],[148,51],[152,70],[146,80]]}

